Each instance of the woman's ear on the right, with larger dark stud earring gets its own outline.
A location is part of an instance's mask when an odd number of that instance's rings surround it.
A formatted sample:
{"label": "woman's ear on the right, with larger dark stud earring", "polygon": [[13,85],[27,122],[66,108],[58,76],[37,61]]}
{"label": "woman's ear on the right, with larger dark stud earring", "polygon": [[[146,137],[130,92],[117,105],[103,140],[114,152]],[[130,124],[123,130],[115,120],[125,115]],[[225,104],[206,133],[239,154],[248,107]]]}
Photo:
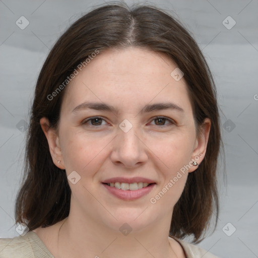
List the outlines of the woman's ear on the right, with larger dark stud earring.
{"label": "woman's ear on the right, with larger dark stud earring", "polygon": [[201,125],[200,130],[201,130],[200,136],[199,138],[196,139],[196,143],[195,143],[195,147],[193,148],[192,159],[191,159],[191,161],[196,161],[198,165],[194,166],[192,165],[192,163],[190,163],[191,167],[188,170],[189,173],[195,171],[205,157],[210,130],[211,130],[211,120],[209,118],[205,118],[203,124]]}

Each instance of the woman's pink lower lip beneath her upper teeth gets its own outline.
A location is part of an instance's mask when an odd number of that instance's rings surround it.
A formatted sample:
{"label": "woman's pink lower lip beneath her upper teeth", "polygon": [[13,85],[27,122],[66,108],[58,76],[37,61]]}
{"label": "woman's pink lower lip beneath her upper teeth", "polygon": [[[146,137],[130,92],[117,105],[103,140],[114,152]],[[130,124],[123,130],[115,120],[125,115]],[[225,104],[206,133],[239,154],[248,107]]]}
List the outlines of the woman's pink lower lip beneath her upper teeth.
{"label": "woman's pink lower lip beneath her upper teeth", "polygon": [[[111,182],[114,182],[114,181],[111,181]],[[124,181],[122,181],[122,182],[124,182]],[[134,182],[136,182],[136,181],[134,181]],[[144,182],[146,182],[146,181],[144,181]],[[137,200],[145,195],[148,195],[148,193],[155,187],[156,183],[152,183],[152,184],[148,185],[147,187],[144,187],[144,188],[141,188],[138,190],[121,190],[121,189],[117,189],[112,186],[108,186],[105,183],[102,183],[102,185],[109,191],[109,193],[111,193],[111,195],[113,195],[121,200],[124,200],[124,201],[133,201],[133,200]]]}

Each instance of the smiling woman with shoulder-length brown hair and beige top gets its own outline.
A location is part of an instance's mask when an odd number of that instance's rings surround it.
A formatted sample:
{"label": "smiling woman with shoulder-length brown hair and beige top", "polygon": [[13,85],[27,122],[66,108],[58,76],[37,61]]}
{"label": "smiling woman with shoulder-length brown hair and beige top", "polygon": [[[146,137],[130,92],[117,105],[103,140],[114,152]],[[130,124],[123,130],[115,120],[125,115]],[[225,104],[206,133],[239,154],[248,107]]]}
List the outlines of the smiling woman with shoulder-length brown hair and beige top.
{"label": "smiling woman with shoulder-length brown hair and beige top", "polygon": [[221,135],[211,72],[174,18],[123,4],[84,15],[50,51],[30,119],[26,228],[1,257],[216,257],[182,240],[218,216]]}

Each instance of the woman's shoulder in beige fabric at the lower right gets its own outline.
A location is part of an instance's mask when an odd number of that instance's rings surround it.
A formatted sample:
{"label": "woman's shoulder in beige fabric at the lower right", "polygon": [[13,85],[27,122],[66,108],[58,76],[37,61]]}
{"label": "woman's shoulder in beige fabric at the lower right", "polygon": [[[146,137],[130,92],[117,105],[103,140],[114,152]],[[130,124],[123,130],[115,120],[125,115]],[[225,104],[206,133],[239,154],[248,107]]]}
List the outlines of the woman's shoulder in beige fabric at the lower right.
{"label": "woman's shoulder in beige fabric at the lower right", "polygon": [[176,237],[172,238],[181,244],[186,254],[186,258],[219,258],[218,256],[212,254],[211,252],[203,249],[200,246],[190,244]]}

